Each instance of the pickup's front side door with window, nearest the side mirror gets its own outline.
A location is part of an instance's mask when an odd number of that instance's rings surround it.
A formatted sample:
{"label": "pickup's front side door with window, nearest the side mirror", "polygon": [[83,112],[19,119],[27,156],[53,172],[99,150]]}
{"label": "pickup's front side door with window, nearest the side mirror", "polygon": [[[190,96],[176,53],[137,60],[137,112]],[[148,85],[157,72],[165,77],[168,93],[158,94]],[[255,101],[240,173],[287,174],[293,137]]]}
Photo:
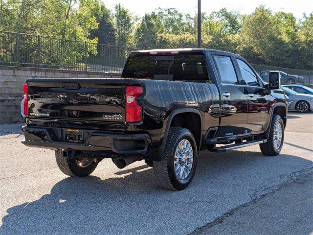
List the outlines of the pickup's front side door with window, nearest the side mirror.
{"label": "pickup's front side door with window, nearest the side mirror", "polygon": [[248,95],[248,119],[246,128],[249,132],[264,132],[269,121],[269,95],[260,94],[263,83],[257,74],[241,58],[236,58],[241,77],[246,84]]}

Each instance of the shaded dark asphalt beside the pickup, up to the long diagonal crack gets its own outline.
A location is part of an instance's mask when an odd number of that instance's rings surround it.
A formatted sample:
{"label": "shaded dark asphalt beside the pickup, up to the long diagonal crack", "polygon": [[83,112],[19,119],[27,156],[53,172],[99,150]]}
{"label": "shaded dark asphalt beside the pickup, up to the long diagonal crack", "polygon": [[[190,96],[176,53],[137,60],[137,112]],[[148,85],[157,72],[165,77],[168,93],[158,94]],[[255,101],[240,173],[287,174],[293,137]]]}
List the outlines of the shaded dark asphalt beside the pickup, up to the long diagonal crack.
{"label": "shaded dark asphalt beside the pickup, up to the long diagonal crack", "polygon": [[118,171],[116,178],[68,177],[39,200],[9,208],[0,234],[158,234],[181,233],[186,226],[191,232],[305,167],[312,162],[286,154],[203,151],[194,181],[182,191],[157,188],[148,165]]}

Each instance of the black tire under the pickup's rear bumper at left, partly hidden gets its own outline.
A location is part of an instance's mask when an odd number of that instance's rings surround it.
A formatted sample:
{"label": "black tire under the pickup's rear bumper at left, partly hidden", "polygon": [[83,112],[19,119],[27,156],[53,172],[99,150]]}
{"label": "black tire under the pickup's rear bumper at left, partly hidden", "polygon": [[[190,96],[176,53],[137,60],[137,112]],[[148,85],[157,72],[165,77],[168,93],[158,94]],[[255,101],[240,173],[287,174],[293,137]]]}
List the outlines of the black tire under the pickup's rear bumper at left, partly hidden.
{"label": "black tire under the pickup's rear bumper at left, partly hidden", "polygon": [[77,161],[79,161],[80,159],[87,159],[87,155],[88,154],[81,153],[76,158],[66,158],[63,156],[63,151],[55,151],[55,159],[60,170],[64,174],[74,177],[89,176],[97,167],[98,164],[95,163],[93,159],[90,159],[91,162],[85,167],[81,167],[78,165]]}

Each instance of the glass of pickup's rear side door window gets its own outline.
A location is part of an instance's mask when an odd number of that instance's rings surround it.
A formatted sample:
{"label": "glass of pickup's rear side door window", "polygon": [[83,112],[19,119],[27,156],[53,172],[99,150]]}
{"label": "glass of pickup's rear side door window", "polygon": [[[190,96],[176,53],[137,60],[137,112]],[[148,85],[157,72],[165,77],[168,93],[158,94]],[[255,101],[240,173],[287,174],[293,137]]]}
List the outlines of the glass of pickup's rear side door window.
{"label": "glass of pickup's rear side door window", "polygon": [[217,69],[220,73],[221,81],[227,84],[238,84],[234,65],[229,56],[214,55]]}

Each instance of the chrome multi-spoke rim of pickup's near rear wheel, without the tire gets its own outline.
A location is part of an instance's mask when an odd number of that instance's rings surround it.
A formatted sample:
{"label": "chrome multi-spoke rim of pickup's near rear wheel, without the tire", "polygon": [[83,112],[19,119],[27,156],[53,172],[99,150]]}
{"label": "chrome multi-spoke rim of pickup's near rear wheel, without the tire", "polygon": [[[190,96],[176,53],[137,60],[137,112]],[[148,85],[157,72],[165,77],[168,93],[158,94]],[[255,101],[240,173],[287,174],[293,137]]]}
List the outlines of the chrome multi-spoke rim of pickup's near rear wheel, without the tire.
{"label": "chrome multi-spoke rim of pickup's near rear wheel, without the tire", "polygon": [[176,177],[180,180],[186,179],[193,165],[193,149],[188,140],[182,140],[176,147],[174,156],[174,167]]}

